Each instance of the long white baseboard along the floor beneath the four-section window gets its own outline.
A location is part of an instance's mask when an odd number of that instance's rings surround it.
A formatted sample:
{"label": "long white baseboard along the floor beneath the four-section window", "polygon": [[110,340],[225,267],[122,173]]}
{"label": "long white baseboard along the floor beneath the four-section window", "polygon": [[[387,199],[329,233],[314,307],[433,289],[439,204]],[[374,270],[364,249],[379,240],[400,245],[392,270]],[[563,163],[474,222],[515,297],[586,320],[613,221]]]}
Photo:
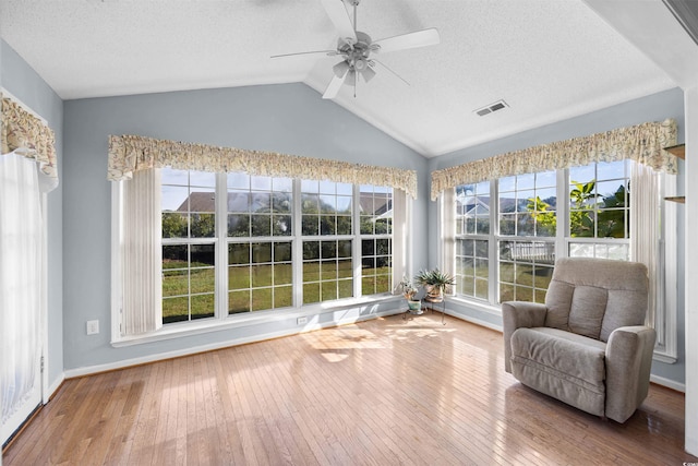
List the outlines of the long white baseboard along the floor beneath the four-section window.
{"label": "long white baseboard along the floor beneath the four-section window", "polygon": [[301,334],[301,333],[312,332],[312,331],[316,331],[316,330],[321,330],[321,328],[328,328],[328,327],[334,327],[334,326],[338,326],[338,325],[352,324],[352,323],[356,323],[356,322],[368,321],[368,320],[371,320],[371,319],[377,319],[377,318],[394,315],[394,314],[397,314],[397,313],[400,313],[400,312],[401,311],[396,311],[396,310],[393,309],[393,310],[388,310],[388,311],[376,312],[376,313],[369,314],[369,315],[360,315],[358,318],[345,318],[345,319],[340,319],[338,321],[330,321],[330,322],[325,322],[325,323],[315,324],[315,325],[306,325],[301,330],[289,328],[287,331],[270,332],[270,333],[266,333],[266,334],[262,334],[262,335],[254,335],[254,336],[242,337],[242,338],[233,338],[233,339],[229,339],[229,340],[226,340],[226,342],[214,343],[214,344],[210,344],[210,345],[201,345],[201,346],[194,346],[194,347],[191,347],[191,348],[178,349],[178,350],[174,350],[174,351],[158,353],[158,354],[155,354],[155,355],[143,356],[143,357],[140,357],[140,358],[124,359],[124,360],[120,360],[120,361],[108,362],[106,365],[86,366],[86,367],[82,367],[82,368],[68,369],[64,372],[64,378],[65,379],[74,379],[74,378],[91,375],[91,374],[95,374],[95,373],[99,373],[99,372],[108,372],[108,371],[112,371],[112,370],[124,369],[124,368],[132,367],[132,366],[140,366],[140,365],[145,365],[145,363],[148,363],[148,362],[161,361],[161,360],[165,360],[165,359],[179,358],[179,357],[182,357],[182,356],[190,356],[190,355],[195,355],[195,354],[198,354],[198,353],[214,351],[216,349],[228,348],[228,347],[238,346],[238,345],[244,345],[244,344],[248,344],[248,343],[257,343],[257,342],[263,342],[265,339],[274,339],[274,338],[279,338],[279,337],[284,337],[284,336],[298,335],[298,334]]}

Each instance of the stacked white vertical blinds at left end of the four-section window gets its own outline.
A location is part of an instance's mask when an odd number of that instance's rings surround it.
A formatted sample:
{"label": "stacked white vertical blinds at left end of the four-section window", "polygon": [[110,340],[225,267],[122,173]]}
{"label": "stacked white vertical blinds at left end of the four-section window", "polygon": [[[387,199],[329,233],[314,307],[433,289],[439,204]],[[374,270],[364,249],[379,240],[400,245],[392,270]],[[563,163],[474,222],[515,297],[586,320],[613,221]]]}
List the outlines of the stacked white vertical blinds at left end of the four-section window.
{"label": "stacked white vertical blinds at left end of the four-section window", "polygon": [[128,336],[163,326],[160,170],[136,171],[121,183],[121,335]]}

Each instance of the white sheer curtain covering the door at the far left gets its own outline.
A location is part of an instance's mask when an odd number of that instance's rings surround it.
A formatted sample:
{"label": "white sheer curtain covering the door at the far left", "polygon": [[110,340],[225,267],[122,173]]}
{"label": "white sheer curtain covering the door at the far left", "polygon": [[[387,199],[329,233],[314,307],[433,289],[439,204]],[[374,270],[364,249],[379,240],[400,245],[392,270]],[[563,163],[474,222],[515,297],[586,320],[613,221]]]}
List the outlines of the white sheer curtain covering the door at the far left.
{"label": "white sheer curtain covering the door at the far left", "polygon": [[[0,155],[2,423],[38,387],[41,357],[43,220],[37,164]],[[36,405],[35,405],[36,406]]]}

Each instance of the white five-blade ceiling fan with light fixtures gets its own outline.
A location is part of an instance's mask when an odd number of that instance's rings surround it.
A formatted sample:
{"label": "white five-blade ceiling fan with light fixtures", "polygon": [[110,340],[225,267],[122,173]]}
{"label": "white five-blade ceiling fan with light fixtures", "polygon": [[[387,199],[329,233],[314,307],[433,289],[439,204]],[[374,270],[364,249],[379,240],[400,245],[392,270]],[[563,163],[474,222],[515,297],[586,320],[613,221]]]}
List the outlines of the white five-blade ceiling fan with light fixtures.
{"label": "white five-blade ceiling fan with light fixtures", "polygon": [[[332,20],[335,28],[339,33],[336,50],[314,50],[296,53],[275,55],[272,58],[290,57],[308,53],[325,53],[327,56],[341,57],[341,61],[333,67],[335,75],[325,88],[323,98],[335,98],[341,85],[353,84],[354,97],[357,96],[357,83],[359,75],[368,83],[375,76],[376,63],[405,81],[397,73],[372,58],[372,53],[385,53],[388,51],[406,50],[417,47],[436,45],[441,41],[438,31],[434,27],[400,34],[399,36],[386,37],[380,40],[371,40],[366,33],[357,31],[357,7],[361,0],[346,0],[353,7],[353,22],[345,8],[345,0],[321,0],[327,15]],[[407,81],[405,81],[407,83]]]}

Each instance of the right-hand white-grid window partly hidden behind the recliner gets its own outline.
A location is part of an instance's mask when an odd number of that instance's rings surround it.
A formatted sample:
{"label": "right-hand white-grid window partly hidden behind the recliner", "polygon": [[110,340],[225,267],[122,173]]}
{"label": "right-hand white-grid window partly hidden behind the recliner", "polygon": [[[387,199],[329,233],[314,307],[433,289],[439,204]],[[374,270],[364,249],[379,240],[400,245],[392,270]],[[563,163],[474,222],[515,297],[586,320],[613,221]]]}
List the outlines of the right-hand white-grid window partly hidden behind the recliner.
{"label": "right-hand white-grid window partly hidden behind the recliner", "polygon": [[631,164],[594,163],[457,187],[456,294],[492,304],[543,302],[557,256],[628,260]]}

